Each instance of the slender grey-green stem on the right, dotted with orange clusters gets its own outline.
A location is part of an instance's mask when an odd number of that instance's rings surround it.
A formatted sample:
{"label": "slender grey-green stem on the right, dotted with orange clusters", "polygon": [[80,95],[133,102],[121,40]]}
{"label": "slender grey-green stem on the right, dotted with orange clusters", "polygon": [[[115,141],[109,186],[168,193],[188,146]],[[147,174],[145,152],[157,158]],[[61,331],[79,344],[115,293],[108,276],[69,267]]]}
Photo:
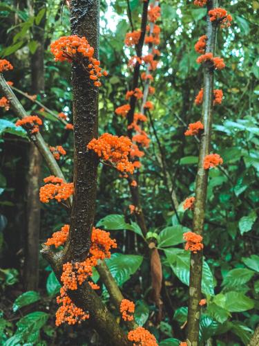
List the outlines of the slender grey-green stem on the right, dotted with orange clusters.
{"label": "slender grey-green stem on the right, dotted with orange clusters", "polygon": [[[207,3],[207,46],[206,53],[215,52],[217,26],[211,23],[208,12],[215,7],[216,1]],[[209,154],[211,147],[211,126],[213,119],[213,77],[214,71],[211,64],[205,63],[203,82],[202,124],[204,132],[200,140],[200,152],[198,161],[198,173],[195,185],[195,205],[193,210],[193,232],[202,235],[204,227],[205,204],[207,198],[208,170],[204,170],[204,157]],[[202,286],[202,251],[191,253],[189,307],[188,307],[188,331],[187,343],[198,346],[200,325],[200,299]]]}

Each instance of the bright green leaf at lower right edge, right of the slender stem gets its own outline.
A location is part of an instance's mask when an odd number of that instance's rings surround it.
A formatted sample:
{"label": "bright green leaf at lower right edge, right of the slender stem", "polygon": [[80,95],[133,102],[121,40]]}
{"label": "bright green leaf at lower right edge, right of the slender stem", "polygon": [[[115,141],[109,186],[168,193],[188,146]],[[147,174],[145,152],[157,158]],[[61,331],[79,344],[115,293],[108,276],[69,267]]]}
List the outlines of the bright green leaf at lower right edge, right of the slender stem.
{"label": "bright green leaf at lower right edge, right of the slender stem", "polygon": [[225,294],[225,309],[230,312],[241,312],[253,309],[254,302],[251,298],[236,291],[230,291]]}

